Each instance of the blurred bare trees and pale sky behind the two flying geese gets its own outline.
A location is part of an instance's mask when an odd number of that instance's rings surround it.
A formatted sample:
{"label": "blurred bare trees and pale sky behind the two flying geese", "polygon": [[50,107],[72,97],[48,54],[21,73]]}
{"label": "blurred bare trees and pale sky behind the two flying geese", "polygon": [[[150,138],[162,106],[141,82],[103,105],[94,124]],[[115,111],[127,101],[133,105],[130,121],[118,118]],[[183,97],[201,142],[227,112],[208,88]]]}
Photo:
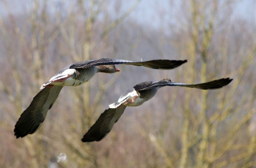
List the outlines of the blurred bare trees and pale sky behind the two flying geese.
{"label": "blurred bare trees and pale sky behind the two flying geese", "polygon": [[[1,0],[0,167],[256,167],[256,1]],[[118,65],[64,87],[42,127],[14,125],[42,83],[72,62],[112,57],[188,62],[171,71]],[[164,87],[127,108],[100,142],[81,138],[106,108],[142,81]]]}

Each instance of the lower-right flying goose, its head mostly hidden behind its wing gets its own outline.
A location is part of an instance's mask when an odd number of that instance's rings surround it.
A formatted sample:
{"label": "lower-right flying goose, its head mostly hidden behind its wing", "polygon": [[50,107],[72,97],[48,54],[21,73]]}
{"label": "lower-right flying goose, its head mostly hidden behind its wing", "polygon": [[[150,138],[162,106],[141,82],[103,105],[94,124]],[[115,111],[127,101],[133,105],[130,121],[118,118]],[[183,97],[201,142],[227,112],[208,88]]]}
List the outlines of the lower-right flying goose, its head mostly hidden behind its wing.
{"label": "lower-right flying goose, its head mostly hidden behind its wing", "polygon": [[98,120],[92,125],[92,127],[86,132],[81,141],[93,142],[101,141],[113,128],[113,125],[119,120],[120,116],[124,113],[126,106],[140,106],[144,102],[152,99],[156,95],[157,90],[165,86],[179,86],[179,87],[190,87],[199,88],[203,90],[216,89],[228,85],[232,79],[222,78],[220,80],[209,81],[207,83],[199,84],[185,84],[173,82],[170,79],[163,79],[161,81],[145,81],[130,88],[117,102],[109,105],[109,109],[106,109],[104,113],[100,115]]}

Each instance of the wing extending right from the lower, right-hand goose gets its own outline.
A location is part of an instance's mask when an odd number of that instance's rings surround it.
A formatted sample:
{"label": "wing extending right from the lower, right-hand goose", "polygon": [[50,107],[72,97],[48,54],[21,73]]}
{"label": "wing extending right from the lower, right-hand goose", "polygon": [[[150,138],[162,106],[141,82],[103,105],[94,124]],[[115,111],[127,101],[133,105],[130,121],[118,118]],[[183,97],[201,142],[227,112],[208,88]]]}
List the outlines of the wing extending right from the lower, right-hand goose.
{"label": "wing extending right from the lower, right-hand goose", "polygon": [[233,79],[230,78],[222,78],[220,80],[214,80],[214,81],[209,81],[206,83],[198,83],[198,84],[186,84],[186,83],[177,83],[177,82],[172,82],[171,80],[161,80],[157,82],[152,82],[151,85],[136,85],[134,86],[135,90],[140,91],[140,90],[148,90],[151,88],[155,87],[164,87],[164,86],[178,86],[178,87],[190,87],[190,88],[199,88],[203,90],[208,90],[208,89],[217,89],[224,87],[228,85]]}

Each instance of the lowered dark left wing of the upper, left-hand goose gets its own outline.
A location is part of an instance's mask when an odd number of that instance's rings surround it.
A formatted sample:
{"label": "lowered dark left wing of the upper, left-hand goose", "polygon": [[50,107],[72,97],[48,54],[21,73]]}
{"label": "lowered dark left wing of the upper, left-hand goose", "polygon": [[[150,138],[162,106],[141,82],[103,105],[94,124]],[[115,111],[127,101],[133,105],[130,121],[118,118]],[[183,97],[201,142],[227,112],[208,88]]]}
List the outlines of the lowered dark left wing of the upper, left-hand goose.
{"label": "lowered dark left wing of the upper, left-hand goose", "polygon": [[49,109],[56,101],[61,91],[60,86],[44,88],[34,98],[29,107],[20,115],[15,124],[14,135],[19,137],[33,134],[44,122]]}

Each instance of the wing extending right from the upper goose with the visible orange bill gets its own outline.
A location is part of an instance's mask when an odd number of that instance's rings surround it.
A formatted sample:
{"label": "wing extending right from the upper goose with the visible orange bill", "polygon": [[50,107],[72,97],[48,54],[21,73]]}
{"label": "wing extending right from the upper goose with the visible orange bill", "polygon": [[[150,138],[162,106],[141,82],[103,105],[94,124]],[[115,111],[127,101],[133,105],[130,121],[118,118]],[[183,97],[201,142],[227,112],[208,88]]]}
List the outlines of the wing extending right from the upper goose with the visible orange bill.
{"label": "wing extending right from the upper goose with the visible orange bill", "polygon": [[173,69],[175,67],[181,66],[185,62],[187,62],[187,60],[148,60],[148,61],[134,62],[131,60],[102,58],[97,60],[86,60],[82,62],[76,62],[74,64],[71,64],[69,68],[74,69],[74,68],[88,68],[92,66],[101,66],[101,65],[126,64],[126,65],[132,65],[132,66],[145,66],[152,69]]}

